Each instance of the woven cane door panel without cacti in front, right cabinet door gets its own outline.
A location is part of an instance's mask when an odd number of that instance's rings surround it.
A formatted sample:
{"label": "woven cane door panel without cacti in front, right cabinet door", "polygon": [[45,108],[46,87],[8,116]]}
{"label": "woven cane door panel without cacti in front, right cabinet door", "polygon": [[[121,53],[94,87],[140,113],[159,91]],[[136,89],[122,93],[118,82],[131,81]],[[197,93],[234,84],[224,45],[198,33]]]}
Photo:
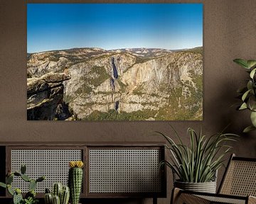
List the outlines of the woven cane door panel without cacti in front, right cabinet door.
{"label": "woven cane door panel without cacti in front, right cabinet door", "polygon": [[162,154],[162,149],[156,147],[89,147],[88,195],[161,194]]}

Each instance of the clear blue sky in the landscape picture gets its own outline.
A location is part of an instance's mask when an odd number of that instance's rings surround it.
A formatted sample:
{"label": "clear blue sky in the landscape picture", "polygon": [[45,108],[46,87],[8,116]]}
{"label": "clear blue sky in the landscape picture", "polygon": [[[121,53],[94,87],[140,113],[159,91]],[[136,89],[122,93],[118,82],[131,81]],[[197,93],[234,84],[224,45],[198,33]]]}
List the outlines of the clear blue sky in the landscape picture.
{"label": "clear blue sky in the landscape picture", "polygon": [[27,51],[203,45],[203,4],[27,4]]}

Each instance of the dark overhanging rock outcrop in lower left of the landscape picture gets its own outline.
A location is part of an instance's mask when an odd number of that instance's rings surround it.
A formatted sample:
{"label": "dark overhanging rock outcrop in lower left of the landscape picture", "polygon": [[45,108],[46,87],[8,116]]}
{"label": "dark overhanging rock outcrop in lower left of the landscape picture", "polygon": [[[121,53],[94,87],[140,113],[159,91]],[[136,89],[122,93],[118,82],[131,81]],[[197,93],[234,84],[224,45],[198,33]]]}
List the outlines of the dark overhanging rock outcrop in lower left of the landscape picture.
{"label": "dark overhanging rock outcrop in lower left of the landscape picture", "polygon": [[64,120],[70,116],[63,101],[63,81],[70,74],[49,72],[27,79],[28,120]]}

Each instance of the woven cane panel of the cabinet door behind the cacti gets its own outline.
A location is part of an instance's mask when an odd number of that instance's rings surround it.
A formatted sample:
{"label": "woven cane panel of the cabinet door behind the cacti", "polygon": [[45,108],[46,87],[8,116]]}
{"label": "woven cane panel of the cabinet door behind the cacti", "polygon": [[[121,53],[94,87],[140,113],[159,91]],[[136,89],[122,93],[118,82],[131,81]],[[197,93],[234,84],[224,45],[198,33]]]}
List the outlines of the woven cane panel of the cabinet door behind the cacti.
{"label": "woven cane panel of the cabinet door behind the cacti", "polygon": [[[44,193],[46,188],[52,188],[53,183],[60,182],[68,185],[68,162],[83,160],[82,149],[63,149],[41,147],[35,149],[26,147],[21,149],[14,147],[10,149],[11,171],[20,172],[21,164],[26,164],[26,174],[31,179],[38,179],[40,176],[46,176],[46,180],[38,183],[36,193]],[[21,188],[22,192],[28,192],[28,182],[14,176],[12,183],[14,188]]]}

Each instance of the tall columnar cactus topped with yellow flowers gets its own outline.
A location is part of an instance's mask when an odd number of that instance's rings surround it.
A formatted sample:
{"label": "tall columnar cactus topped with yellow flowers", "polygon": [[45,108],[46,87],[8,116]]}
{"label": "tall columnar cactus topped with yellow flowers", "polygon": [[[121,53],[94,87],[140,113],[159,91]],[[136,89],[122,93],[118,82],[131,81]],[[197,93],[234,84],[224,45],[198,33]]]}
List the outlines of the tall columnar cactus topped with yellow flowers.
{"label": "tall columnar cactus topped with yellow flowers", "polygon": [[82,188],[82,161],[70,162],[68,185],[70,187],[71,204],[78,204]]}

